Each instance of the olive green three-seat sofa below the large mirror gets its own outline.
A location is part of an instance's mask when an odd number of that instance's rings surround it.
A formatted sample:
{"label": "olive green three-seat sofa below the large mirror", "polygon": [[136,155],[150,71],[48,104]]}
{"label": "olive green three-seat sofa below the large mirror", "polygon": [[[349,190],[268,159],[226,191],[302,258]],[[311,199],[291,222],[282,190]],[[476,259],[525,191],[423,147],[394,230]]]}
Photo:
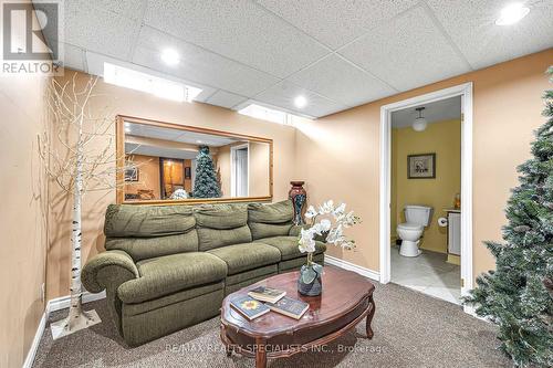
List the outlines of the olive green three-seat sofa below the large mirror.
{"label": "olive green three-seat sofa below the large mirror", "polygon": [[[305,262],[291,201],[273,204],[112,204],[106,251],[83,267],[106,291],[123,338],[136,346],[219,314],[226,295]],[[326,246],[316,243],[315,262]]]}

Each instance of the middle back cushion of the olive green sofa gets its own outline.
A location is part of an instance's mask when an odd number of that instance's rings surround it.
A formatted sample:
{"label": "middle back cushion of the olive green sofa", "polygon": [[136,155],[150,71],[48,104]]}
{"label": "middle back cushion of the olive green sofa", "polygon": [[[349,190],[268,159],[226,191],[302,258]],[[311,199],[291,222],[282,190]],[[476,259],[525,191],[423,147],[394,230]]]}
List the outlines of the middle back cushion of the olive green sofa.
{"label": "middle back cushion of the olive green sofa", "polygon": [[194,210],[199,250],[251,242],[248,204],[202,204]]}

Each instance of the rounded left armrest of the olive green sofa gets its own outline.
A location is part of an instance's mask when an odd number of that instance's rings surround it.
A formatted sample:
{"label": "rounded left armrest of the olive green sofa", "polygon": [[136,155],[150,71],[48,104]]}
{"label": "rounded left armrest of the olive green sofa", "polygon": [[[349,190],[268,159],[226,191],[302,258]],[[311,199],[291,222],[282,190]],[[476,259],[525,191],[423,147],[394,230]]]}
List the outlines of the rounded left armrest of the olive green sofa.
{"label": "rounded left armrest of the olive green sofa", "polygon": [[118,250],[93,256],[81,273],[81,281],[91,293],[100,293],[104,288],[116,290],[124,282],[138,277],[140,274],[131,255]]}

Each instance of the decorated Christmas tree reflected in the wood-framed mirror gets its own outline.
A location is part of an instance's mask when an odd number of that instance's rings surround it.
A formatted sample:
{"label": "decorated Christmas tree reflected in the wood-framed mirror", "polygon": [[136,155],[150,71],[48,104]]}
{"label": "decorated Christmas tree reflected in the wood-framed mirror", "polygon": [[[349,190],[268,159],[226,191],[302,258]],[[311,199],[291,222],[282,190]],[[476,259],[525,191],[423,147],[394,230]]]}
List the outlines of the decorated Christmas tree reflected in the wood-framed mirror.
{"label": "decorated Christmas tree reflected in the wood-framed mirror", "polygon": [[196,156],[196,179],[194,180],[194,198],[219,198],[221,187],[217,180],[213,160],[208,146],[200,146]]}

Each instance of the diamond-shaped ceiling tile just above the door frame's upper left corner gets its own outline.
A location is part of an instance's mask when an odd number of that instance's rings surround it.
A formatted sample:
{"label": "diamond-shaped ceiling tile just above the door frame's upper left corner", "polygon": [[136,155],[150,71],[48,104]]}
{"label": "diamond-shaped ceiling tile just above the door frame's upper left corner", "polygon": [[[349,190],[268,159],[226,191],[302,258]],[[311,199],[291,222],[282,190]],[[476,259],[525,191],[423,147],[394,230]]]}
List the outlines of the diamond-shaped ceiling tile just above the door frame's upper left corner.
{"label": "diamond-shaped ceiling tile just above the door frame's upper left corner", "polygon": [[316,62],[288,80],[348,106],[397,93],[336,54]]}

